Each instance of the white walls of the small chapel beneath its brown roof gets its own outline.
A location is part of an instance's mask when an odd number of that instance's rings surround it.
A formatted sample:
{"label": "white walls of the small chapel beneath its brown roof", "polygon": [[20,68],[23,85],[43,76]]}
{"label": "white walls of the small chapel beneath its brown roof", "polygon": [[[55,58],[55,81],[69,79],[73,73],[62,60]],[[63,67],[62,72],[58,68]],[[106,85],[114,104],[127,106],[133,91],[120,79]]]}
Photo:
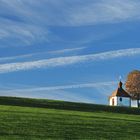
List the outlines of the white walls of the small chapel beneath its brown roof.
{"label": "white walls of the small chapel beneath its brown roof", "polygon": [[131,99],[129,97],[111,97],[109,100],[111,106],[131,106]]}

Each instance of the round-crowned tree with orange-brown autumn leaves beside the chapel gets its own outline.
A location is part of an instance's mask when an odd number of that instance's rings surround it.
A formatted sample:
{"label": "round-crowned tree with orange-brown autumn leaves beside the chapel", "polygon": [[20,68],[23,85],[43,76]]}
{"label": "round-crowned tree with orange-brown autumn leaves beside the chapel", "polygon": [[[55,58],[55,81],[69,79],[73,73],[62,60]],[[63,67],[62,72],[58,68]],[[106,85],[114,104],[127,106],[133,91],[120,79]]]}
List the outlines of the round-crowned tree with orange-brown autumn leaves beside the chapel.
{"label": "round-crowned tree with orange-brown autumn leaves beside the chapel", "polygon": [[140,71],[134,70],[127,76],[125,83],[127,92],[131,95],[132,100],[137,100],[137,105],[140,107]]}

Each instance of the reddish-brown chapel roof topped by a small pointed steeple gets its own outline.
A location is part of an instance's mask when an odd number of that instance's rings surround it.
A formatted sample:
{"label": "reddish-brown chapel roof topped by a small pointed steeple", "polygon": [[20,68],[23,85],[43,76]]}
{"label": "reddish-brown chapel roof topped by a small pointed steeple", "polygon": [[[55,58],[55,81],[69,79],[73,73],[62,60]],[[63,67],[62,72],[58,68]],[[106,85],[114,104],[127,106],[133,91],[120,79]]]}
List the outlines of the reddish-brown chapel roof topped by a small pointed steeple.
{"label": "reddish-brown chapel roof topped by a small pointed steeple", "polygon": [[115,90],[109,98],[114,97],[114,96],[117,96],[117,97],[131,97],[131,96],[122,88],[122,82],[121,82],[121,81],[119,82],[118,89]]}

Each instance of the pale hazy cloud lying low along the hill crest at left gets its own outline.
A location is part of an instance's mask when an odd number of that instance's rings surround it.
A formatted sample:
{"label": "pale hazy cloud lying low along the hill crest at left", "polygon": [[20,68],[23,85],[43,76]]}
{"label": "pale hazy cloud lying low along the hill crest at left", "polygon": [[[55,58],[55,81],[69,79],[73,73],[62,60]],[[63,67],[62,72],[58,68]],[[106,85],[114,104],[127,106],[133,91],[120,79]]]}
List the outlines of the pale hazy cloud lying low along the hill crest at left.
{"label": "pale hazy cloud lying low along the hill crest at left", "polygon": [[69,92],[65,90],[55,91],[22,91],[22,90],[0,90],[0,96],[13,96],[13,97],[26,97],[26,98],[47,98],[55,100],[73,101],[73,102],[95,102],[92,98],[89,98],[82,94],[75,92]]}

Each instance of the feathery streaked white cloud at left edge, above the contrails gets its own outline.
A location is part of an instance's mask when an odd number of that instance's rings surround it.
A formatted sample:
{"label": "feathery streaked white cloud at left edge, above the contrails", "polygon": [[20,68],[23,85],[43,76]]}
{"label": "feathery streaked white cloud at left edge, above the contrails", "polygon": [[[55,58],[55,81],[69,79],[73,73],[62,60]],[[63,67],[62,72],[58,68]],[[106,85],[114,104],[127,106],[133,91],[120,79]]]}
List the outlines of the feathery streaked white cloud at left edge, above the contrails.
{"label": "feathery streaked white cloud at left edge, above the contrails", "polygon": [[43,31],[42,28],[35,25],[6,21],[3,23],[1,22],[0,27],[0,39],[5,39],[6,44],[22,46],[30,45],[36,41],[47,41],[46,37],[48,36],[48,31]]}

